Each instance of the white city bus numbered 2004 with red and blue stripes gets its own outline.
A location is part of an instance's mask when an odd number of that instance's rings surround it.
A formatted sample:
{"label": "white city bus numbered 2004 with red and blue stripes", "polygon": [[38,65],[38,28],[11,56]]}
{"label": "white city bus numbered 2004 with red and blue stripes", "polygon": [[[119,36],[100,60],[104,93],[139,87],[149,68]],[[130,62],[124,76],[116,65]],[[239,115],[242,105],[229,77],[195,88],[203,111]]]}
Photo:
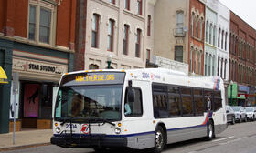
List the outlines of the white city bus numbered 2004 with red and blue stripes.
{"label": "white city bus numbered 2004 with red and blue stripes", "polygon": [[227,128],[217,76],[163,68],[89,70],[59,82],[51,143],[63,148],[153,148],[215,138]]}

